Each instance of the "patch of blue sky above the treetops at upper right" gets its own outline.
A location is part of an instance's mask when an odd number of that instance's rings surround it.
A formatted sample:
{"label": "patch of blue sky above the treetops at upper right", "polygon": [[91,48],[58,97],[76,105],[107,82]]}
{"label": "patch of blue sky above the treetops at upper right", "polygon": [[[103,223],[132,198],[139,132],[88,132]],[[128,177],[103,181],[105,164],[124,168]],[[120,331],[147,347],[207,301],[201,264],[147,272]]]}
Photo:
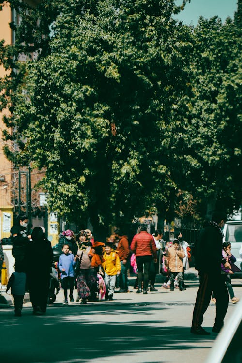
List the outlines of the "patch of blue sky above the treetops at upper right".
{"label": "patch of blue sky above the treetops at upper right", "polygon": [[184,10],[174,17],[185,24],[197,25],[199,16],[208,19],[218,15],[224,22],[228,16],[234,17],[237,2],[238,0],[191,0],[190,4],[186,4]]}

